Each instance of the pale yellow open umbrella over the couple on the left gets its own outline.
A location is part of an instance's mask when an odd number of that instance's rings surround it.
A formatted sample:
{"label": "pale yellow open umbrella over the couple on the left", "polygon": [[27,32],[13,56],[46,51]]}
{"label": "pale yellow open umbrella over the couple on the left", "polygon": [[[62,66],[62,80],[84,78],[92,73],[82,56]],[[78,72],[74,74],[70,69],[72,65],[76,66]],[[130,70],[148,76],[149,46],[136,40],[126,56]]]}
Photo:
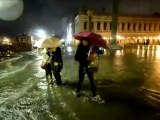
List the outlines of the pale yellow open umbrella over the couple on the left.
{"label": "pale yellow open umbrella over the couple on the left", "polygon": [[49,37],[44,39],[40,48],[56,48],[60,46],[60,39],[56,37]]}

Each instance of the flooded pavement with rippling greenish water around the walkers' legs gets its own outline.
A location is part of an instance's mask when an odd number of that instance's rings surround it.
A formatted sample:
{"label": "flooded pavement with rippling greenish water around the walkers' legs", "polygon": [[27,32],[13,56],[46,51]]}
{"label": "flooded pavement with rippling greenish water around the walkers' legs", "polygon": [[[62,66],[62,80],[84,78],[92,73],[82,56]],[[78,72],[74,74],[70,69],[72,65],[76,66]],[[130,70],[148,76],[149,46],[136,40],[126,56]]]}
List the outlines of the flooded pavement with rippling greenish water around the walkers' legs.
{"label": "flooded pavement with rippling greenish water around the walkers' legs", "polygon": [[106,52],[95,74],[97,98],[86,77],[75,95],[78,64],[64,55],[64,85],[48,85],[34,52],[0,62],[0,120],[159,120],[159,46]]}

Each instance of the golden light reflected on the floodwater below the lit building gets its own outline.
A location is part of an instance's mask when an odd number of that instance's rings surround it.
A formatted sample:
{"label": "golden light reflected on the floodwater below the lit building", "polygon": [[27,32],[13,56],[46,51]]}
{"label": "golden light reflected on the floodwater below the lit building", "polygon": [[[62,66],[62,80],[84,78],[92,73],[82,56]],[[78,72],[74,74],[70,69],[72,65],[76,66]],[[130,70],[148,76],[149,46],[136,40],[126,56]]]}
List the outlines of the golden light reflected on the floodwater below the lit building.
{"label": "golden light reflected on the floodwater below the lit building", "polygon": [[103,70],[108,68],[107,72],[102,71],[103,75],[107,74],[102,78],[109,78],[125,87],[145,90],[148,99],[160,102],[160,46],[124,49],[116,51],[112,57],[108,55],[110,62],[101,66]]}

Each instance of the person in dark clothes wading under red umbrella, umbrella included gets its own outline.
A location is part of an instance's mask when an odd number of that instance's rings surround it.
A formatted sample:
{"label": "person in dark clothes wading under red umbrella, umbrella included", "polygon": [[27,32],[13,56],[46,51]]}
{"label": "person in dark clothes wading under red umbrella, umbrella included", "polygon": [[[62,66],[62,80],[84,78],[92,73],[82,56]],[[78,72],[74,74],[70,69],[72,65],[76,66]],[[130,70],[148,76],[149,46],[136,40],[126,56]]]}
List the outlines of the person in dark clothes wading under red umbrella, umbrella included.
{"label": "person in dark clothes wading under red umbrella, umbrella included", "polygon": [[93,46],[103,47],[108,49],[105,40],[101,35],[93,32],[80,32],[73,36],[75,39],[80,40],[78,45],[75,60],[79,62],[79,82],[77,85],[77,96],[80,96],[81,84],[84,80],[85,74],[88,75],[91,84],[92,96],[96,96],[96,86],[94,82],[94,69],[92,66],[92,60],[95,60],[97,57],[94,53]]}

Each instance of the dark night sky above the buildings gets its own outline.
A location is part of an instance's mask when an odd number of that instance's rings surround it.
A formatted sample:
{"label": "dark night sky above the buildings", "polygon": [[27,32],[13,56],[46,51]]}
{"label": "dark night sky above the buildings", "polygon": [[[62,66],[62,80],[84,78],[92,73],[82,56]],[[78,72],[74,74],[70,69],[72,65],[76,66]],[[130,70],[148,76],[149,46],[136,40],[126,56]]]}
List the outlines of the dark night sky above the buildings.
{"label": "dark night sky above the buildings", "polygon": [[[91,1],[91,2],[89,2]],[[0,33],[17,34],[29,29],[43,28],[65,33],[66,18],[73,18],[79,5],[111,13],[113,0],[23,0],[24,11],[15,21],[0,20]],[[131,14],[153,14],[160,12],[160,0],[120,0],[119,12]]]}

